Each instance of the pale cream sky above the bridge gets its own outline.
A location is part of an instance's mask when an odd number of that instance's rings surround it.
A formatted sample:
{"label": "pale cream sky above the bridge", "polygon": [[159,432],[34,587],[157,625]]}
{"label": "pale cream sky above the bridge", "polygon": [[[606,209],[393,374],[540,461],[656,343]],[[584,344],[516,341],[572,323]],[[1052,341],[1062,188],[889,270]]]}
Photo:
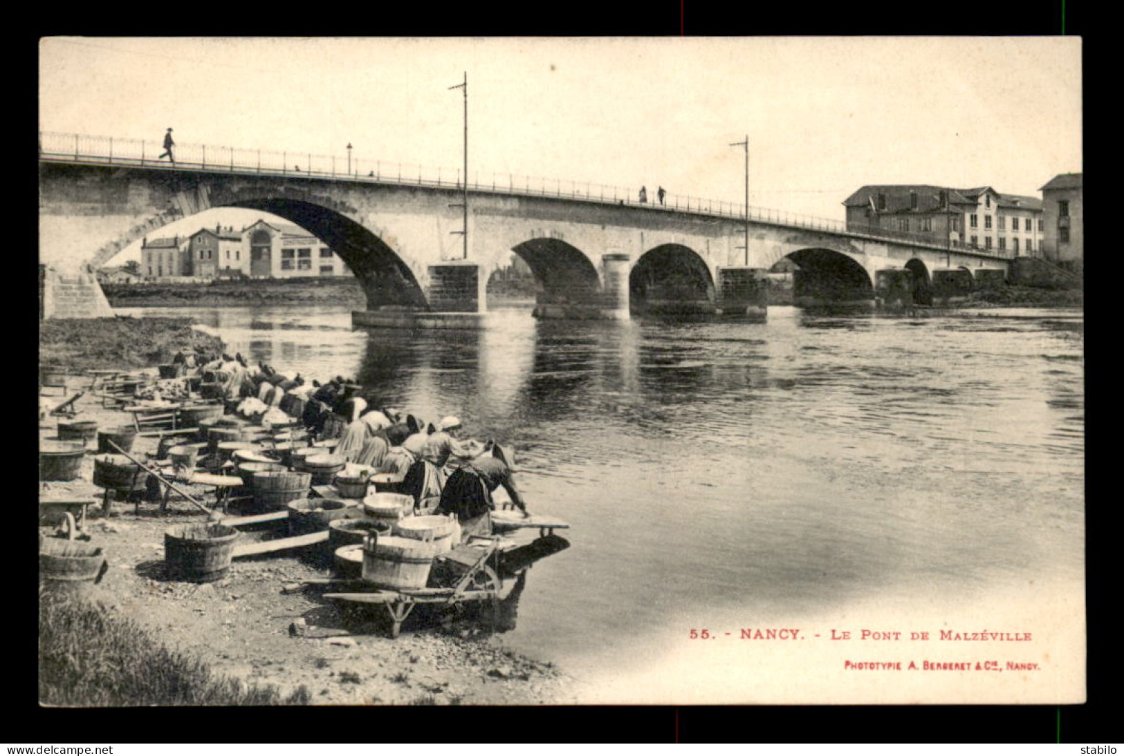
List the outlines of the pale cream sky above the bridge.
{"label": "pale cream sky above the bridge", "polygon": [[39,127],[341,158],[350,143],[455,172],[448,88],[466,74],[470,174],[741,203],[731,143],[747,138],[750,204],[842,220],[863,184],[1039,195],[1082,171],[1080,57],[1077,37],[49,37]]}

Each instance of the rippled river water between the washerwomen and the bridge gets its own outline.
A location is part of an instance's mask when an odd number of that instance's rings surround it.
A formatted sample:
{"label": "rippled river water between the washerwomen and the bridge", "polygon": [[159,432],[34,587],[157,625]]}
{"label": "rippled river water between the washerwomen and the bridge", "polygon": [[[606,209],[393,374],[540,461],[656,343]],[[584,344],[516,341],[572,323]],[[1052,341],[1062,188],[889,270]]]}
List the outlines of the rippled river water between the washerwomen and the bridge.
{"label": "rippled river water between the washerwomen and the bridge", "polygon": [[[600,700],[832,695],[794,693],[821,667],[786,677],[787,648],[780,666],[744,645],[700,655],[691,629],[819,638],[961,617],[1012,629],[998,625],[1024,600],[1076,611],[1081,629],[1080,311],[777,307],[754,325],[536,321],[515,308],[482,330],[416,334],[353,330],[344,308],[118,312],[192,317],[253,361],[356,376],[386,404],[514,444],[531,510],[573,528],[527,573],[504,640]],[[1040,637],[1069,637],[1034,621]],[[822,644],[803,648],[839,666]]]}

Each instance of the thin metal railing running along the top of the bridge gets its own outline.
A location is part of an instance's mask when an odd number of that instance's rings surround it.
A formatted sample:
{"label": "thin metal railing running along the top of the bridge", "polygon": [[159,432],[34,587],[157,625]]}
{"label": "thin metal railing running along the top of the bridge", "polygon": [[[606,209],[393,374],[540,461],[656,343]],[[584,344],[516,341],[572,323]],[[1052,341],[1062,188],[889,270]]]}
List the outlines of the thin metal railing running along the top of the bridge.
{"label": "thin metal railing running along the top of the bridge", "polygon": [[[156,140],[39,131],[39,156],[43,160],[108,163],[121,165],[166,165],[172,163],[160,155],[163,144]],[[173,147],[175,167],[233,173],[257,173],[293,177],[344,179],[382,184],[436,186],[462,189],[464,177],[460,168],[426,166],[372,160],[354,154],[321,155],[310,152],[253,149],[176,144]],[[613,184],[528,176],[510,173],[474,172],[469,175],[468,190],[525,197],[551,197],[627,206],[652,211],[679,211],[726,218],[777,224],[810,230],[853,234],[880,239],[899,239],[913,244],[951,247],[994,257],[1009,257],[1004,251],[984,249],[964,244],[946,243],[928,234],[915,234],[876,226],[850,226],[839,219],[795,213],[772,208],[715,200],[691,194],[668,192],[661,202],[658,186],[647,192],[641,202],[638,188]]]}

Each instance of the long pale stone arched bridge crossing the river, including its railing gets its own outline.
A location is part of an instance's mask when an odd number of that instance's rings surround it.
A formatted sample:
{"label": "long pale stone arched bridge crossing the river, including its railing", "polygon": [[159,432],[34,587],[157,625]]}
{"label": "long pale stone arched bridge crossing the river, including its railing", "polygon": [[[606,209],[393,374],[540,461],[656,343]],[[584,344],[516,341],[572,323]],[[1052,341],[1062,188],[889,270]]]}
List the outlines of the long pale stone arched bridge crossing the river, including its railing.
{"label": "long pale stone arched bridge crossing the river, including its railing", "polygon": [[160,152],[157,143],[40,133],[44,262],[78,252],[97,266],[169,222],[255,209],[336,251],[366,294],[360,322],[481,312],[489,275],[513,252],[535,276],[535,313],[547,318],[760,311],[765,271],[783,258],[798,267],[799,304],[876,293],[927,301],[1000,284],[1009,263],[924,235],[677,194],[641,203],[620,188],[495,174],[466,186],[462,258],[457,171],[206,145],[178,145],[172,164]]}

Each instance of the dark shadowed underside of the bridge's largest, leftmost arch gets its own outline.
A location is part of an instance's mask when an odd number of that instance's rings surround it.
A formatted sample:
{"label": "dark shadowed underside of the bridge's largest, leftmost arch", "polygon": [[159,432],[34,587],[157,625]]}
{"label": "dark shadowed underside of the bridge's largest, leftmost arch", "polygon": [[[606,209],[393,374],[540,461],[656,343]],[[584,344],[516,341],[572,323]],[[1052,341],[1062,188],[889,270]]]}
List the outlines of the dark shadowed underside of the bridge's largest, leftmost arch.
{"label": "dark shadowed underside of the bridge's largest, leftmost arch", "polygon": [[428,309],[425,292],[401,257],[370,229],[323,204],[292,198],[238,199],[215,207],[262,210],[296,224],[332,247],[359,279],[368,309]]}

